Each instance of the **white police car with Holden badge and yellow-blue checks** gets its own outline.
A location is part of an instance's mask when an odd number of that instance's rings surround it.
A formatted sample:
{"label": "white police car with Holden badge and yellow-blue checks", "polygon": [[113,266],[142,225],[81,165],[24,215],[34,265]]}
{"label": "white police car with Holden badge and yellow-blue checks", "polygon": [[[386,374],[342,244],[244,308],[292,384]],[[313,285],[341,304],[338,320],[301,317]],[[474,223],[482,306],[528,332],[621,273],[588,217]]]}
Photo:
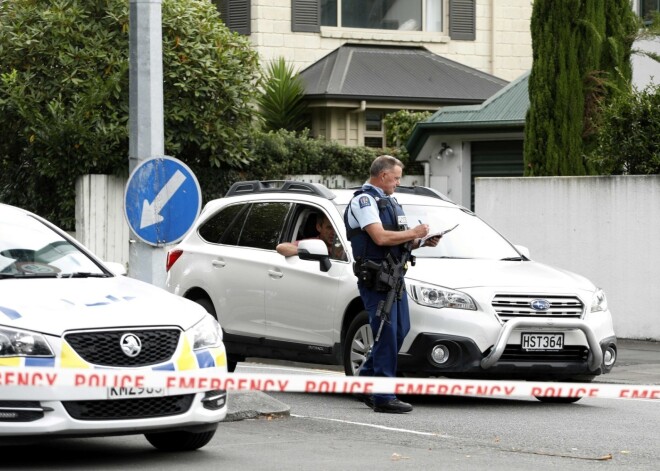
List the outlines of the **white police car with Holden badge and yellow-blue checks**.
{"label": "white police car with Holden badge and yellow-blue checks", "polygon": [[226,415],[224,390],[49,385],[67,371],[201,368],[227,372],[222,330],[204,309],[115,274],[44,219],[0,204],[0,444],[139,433],[162,450],[200,448]]}

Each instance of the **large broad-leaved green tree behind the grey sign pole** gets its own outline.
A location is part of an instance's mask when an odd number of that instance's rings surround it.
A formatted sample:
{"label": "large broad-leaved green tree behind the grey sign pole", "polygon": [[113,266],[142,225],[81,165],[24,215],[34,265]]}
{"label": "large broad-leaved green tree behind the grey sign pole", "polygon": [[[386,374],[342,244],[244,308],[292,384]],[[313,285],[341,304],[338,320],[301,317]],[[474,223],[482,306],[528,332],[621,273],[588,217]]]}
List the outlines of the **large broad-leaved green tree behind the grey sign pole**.
{"label": "large broad-leaved green tree behind the grey sign pole", "polygon": [[[256,53],[210,2],[163,0],[165,152],[249,158]],[[0,200],[72,229],[75,180],[128,171],[128,2],[0,2]]]}

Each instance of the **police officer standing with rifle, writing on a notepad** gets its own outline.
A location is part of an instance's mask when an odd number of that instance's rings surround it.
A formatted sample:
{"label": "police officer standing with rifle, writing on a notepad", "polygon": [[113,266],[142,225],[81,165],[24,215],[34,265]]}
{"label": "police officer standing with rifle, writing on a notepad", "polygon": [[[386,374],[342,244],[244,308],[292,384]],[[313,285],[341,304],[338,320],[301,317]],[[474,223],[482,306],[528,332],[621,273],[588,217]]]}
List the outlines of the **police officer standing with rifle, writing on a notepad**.
{"label": "police officer standing with rifle, writing on a notepad", "polygon": [[[381,321],[377,317],[378,304],[387,296],[389,288],[379,286],[375,266],[381,265],[388,254],[401,261],[405,250],[419,247],[420,238],[429,232],[427,224],[408,228],[406,216],[396,199],[394,190],[401,182],[403,163],[395,157],[381,155],[371,164],[367,183],[355,192],[344,213],[346,232],[351,241],[358,289],[364,307],[369,313],[369,324],[374,338]],[[439,238],[431,238],[425,245],[435,246]],[[369,263],[376,262],[376,263]],[[383,324],[380,337],[359,371],[360,376],[396,376],[396,361],[403,339],[410,330],[408,298],[403,292],[395,299],[389,322]],[[374,394],[362,398],[376,412],[404,413],[412,406],[393,394]]]}

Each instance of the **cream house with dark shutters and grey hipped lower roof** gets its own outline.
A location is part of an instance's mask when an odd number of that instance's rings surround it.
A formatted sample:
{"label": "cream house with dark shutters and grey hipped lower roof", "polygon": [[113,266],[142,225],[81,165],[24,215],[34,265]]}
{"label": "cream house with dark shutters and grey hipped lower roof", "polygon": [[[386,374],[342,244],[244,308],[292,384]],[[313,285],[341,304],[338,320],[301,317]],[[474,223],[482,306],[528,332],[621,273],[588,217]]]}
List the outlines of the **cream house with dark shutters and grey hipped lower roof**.
{"label": "cream house with dark shutters and grey hipped lower roof", "polygon": [[301,72],[312,135],[383,147],[400,109],[479,104],[531,67],[529,0],[212,0]]}

